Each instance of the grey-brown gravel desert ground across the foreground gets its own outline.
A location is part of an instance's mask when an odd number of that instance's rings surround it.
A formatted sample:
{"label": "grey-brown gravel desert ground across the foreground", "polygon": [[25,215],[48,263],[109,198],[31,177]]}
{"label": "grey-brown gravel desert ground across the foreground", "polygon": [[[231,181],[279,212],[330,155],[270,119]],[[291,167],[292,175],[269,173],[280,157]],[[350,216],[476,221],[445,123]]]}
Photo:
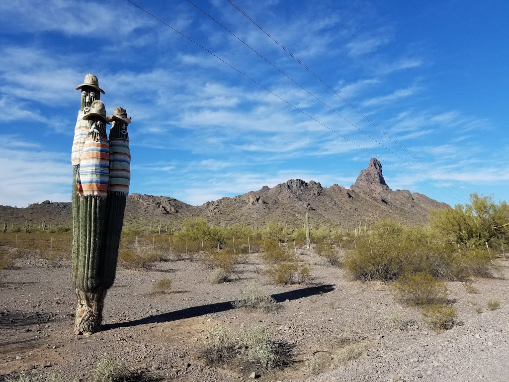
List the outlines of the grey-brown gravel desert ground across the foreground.
{"label": "grey-brown gravel desert ground across the foreground", "polygon": [[[448,283],[463,324],[436,334],[418,309],[394,302],[389,284],[349,281],[343,269],[315,253],[299,258],[311,265],[310,285],[271,285],[254,255],[225,284],[210,283],[211,270],[199,261],[160,262],[149,271],[119,267],[106,296],[104,330],[90,337],[72,334],[70,264],[19,259],[14,268],[0,271],[0,375],[57,371],[86,379],[107,354],[132,372],[159,380],[252,380],[254,370],[207,365],[200,351],[205,333],[218,323],[230,326],[234,335],[263,323],[274,338],[293,347],[294,357],[285,370],[257,380],[509,380],[503,359],[509,349],[506,262],[497,262],[498,278],[473,281],[477,293],[469,293],[464,283]],[[173,280],[172,292],[151,293],[163,277]],[[233,309],[229,302],[253,283],[282,309],[269,314]],[[500,309],[487,309],[490,300],[499,301]],[[395,316],[412,324],[400,330],[392,323]],[[347,337],[361,341],[364,351],[341,363],[335,352]],[[304,370],[310,359],[321,360],[319,374]]]}

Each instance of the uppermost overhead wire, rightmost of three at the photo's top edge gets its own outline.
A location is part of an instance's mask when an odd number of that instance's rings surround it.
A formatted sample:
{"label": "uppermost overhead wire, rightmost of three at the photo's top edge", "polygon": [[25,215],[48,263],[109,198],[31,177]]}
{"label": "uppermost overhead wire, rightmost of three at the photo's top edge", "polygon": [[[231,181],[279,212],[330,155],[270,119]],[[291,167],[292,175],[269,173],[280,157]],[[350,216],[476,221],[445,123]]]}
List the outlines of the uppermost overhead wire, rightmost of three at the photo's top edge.
{"label": "uppermost overhead wire, rightmost of three at the photo's top edge", "polygon": [[[187,0],[190,2],[190,0]],[[422,159],[420,159],[417,155],[415,155],[412,151],[410,151],[409,149],[407,149],[403,144],[401,144],[398,140],[396,140],[395,138],[393,138],[387,131],[385,131],[382,127],[380,127],[378,124],[376,124],[371,118],[367,117],[364,113],[362,113],[362,111],[360,111],[354,104],[352,104],[348,99],[346,99],[345,97],[343,97],[341,94],[339,94],[334,88],[332,88],[329,84],[327,84],[318,74],[316,74],[313,70],[311,70],[307,65],[305,65],[302,61],[300,61],[291,51],[289,51],[284,45],[282,45],[279,41],[277,41],[270,33],[268,33],[259,23],[257,23],[255,20],[253,20],[249,15],[247,15],[244,11],[242,11],[237,5],[235,5],[235,3],[232,2],[232,0],[227,0],[235,9],[237,9],[240,13],[242,13],[248,20],[250,20],[254,25],[256,25],[263,33],[265,33],[272,41],[274,41],[279,47],[281,47],[283,50],[285,50],[295,61],[297,61],[304,69],[306,69],[310,74],[312,74],[315,78],[317,78],[323,85],[325,85],[330,91],[332,91],[337,97],[341,98],[345,103],[347,103],[351,108],[353,108],[353,110],[355,110],[361,117],[363,117],[366,121],[368,121],[369,123],[371,123],[374,127],[376,127],[380,132],[382,132],[387,138],[389,138],[392,142],[394,142],[395,144],[397,144],[398,146],[400,146],[403,150],[405,150],[409,155],[411,155],[414,159],[416,159],[418,162],[421,163],[421,165],[425,166],[428,170],[430,170],[431,172],[433,172],[438,178],[440,178],[442,181],[444,181],[445,183],[447,183],[450,187],[454,188],[455,190],[457,190],[460,194],[462,194],[463,196],[465,196],[466,198],[468,198],[467,195],[465,195],[460,189],[458,189],[454,183],[450,183],[447,179],[445,179],[443,177],[443,175],[441,175],[439,172],[435,171],[431,166],[429,166],[425,161],[423,161]],[[191,3],[191,2],[190,2]],[[192,4],[192,3],[191,3]],[[193,4],[194,5],[194,4]],[[197,7],[196,7],[197,8]],[[202,11],[203,12],[203,11]],[[205,13],[205,12],[204,12]],[[209,16],[210,17],[210,16]],[[215,21],[215,20],[214,20]],[[216,21],[217,22],[217,21]],[[222,25],[221,25],[222,26]],[[223,27],[224,28],[224,27]],[[231,32],[230,32],[231,33]],[[235,36],[237,37],[237,36]],[[238,38],[238,37],[237,37]],[[239,39],[240,40],[240,39]],[[242,41],[242,40],[240,40]],[[243,42],[243,41],[242,41]],[[284,74],[284,73],[283,73]],[[286,74],[285,74],[286,75]],[[300,85],[299,85],[300,86]],[[316,98],[316,97],[315,97]],[[341,116],[342,117],[342,116]],[[343,118],[343,117],[342,117]],[[349,121],[347,121],[349,122]],[[355,126],[357,127],[357,126]],[[358,127],[357,127],[358,128]],[[359,130],[361,130],[360,128],[358,128]],[[361,130],[362,131],[362,130]],[[365,133],[364,131],[362,131],[364,134],[368,135],[370,138],[372,138],[369,134]],[[373,139],[373,138],[372,138]],[[373,139],[374,140],[374,139]],[[375,140],[375,142],[377,142]],[[377,142],[378,143],[378,142]],[[382,144],[380,144],[381,146],[383,146]],[[386,148],[385,146],[383,146],[384,148]],[[387,149],[387,148],[386,148]],[[387,149],[389,150],[390,152],[392,152],[392,150],[390,149]],[[395,154],[394,152],[392,152],[394,155],[397,155]],[[414,166],[410,165],[410,163],[408,163],[405,159],[401,158],[399,155],[397,155],[400,159],[404,160],[407,165],[413,167],[415,170],[419,171],[421,174],[423,175],[426,175],[425,173],[423,173],[422,171],[416,169]],[[428,178],[434,180],[433,178],[431,178],[430,176],[426,175]],[[434,180],[437,184],[438,181]],[[459,196],[458,194],[455,193],[455,195]],[[461,198],[461,196],[459,196]]]}

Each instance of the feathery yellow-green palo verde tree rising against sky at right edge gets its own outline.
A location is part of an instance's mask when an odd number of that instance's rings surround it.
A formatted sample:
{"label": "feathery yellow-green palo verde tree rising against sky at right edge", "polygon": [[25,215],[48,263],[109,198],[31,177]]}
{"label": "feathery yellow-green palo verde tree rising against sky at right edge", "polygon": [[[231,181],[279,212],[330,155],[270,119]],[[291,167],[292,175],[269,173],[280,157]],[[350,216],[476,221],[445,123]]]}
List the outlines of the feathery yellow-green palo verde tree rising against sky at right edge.
{"label": "feathery yellow-green palo verde tree rising against sky at right edge", "polygon": [[509,238],[509,206],[491,196],[470,194],[470,204],[432,210],[430,227],[451,241],[485,245]]}

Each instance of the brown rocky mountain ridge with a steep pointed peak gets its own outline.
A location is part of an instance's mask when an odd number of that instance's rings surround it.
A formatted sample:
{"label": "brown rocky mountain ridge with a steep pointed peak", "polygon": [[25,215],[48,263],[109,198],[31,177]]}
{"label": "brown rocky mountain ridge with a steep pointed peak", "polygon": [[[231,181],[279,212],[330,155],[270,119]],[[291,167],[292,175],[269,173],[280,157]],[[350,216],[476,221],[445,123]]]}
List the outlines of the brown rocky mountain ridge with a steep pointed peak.
{"label": "brown rocky mountain ridge with a steep pointed peak", "polygon": [[[308,213],[313,224],[339,224],[343,227],[369,225],[393,219],[407,225],[425,225],[430,209],[448,208],[426,195],[409,190],[391,190],[382,174],[380,161],[372,158],[350,188],[334,184],[290,179],[273,188],[263,186],[234,198],[221,198],[192,206],[174,198],[131,194],[127,199],[126,224],[174,226],[192,217],[204,217],[217,225],[261,226],[280,221],[300,226]],[[29,226],[69,226],[70,203],[32,204],[27,208],[0,207],[0,220]]]}

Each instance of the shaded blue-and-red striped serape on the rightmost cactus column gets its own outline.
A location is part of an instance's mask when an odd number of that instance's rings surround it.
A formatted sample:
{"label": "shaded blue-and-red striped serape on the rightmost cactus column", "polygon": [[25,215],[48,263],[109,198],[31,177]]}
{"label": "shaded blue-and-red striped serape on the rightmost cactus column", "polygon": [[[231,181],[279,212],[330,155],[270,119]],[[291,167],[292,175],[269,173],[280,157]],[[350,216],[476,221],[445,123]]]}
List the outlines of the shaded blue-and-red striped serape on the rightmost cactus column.
{"label": "shaded blue-and-red striped serape on the rightmost cactus column", "polygon": [[129,140],[109,140],[109,192],[127,196],[131,181],[131,152]]}

